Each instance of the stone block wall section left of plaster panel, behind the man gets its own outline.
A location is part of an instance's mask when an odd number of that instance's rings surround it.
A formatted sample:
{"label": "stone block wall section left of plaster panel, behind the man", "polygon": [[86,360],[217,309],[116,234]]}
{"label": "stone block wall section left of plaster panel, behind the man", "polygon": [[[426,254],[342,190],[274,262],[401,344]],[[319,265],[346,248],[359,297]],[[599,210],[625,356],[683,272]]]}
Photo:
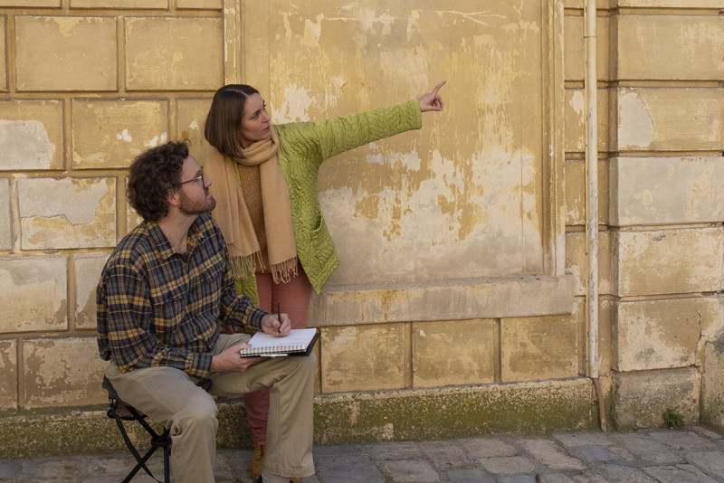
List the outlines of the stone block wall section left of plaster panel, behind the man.
{"label": "stone block wall section left of plaster panel, behind the man", "polygon": [[139,219],[130,161],[196,156],[224,84],[221,0],[0,2],[0,406],[102,403],[95,286]]}

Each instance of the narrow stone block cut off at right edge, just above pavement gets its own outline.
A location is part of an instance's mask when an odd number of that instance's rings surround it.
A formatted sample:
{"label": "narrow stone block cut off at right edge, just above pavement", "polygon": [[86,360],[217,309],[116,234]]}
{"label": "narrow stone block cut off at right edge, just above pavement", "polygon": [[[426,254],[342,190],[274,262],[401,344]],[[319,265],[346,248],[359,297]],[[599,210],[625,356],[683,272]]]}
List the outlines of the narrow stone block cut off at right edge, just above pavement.
{"label": "narrow stone block cut off at right edge, just above pavement", "polygon": [[724,345],[720,341],[704,346],[700,422],[724,430]]}

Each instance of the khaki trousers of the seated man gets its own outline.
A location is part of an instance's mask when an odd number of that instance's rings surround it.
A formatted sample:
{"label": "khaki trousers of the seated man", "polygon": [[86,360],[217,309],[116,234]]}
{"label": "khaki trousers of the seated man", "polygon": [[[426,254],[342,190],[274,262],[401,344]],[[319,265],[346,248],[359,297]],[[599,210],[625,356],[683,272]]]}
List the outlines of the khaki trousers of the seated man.
{"label": "khaki trousers of the seated man", "polygon": [[[214,355],[250,336],[219,336]],[[270,387],[264,471],[281,477],[314,474],[312,459],[313,390],[317,359],[292,356],[265,359],[240,373],[210,376],[209,393],[237,397]],[[106,376],[119,397],[153,421],[171,429],[171,468],[177,483],[214,481],[216,403],[197,381],[171,367],[148,367],[121,373],[111,363]]]}

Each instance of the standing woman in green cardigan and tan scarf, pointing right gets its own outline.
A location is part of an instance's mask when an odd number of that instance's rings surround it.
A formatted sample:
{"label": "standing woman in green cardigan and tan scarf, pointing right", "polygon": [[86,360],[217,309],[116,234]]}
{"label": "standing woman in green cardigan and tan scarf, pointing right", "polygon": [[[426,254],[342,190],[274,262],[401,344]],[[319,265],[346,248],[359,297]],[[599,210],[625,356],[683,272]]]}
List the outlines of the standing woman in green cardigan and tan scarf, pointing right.
{"label": "standing woman in green cardigan and tan scarf, pointing right", "polygon": [[[230,84],[216,91],[204,128],[214,151],[205,175],[214,180],[212,213],[229,249],[236,289],[292,328],[306,327],[311,291],[322,289],[339,259],[322,217],[319,166],[332,156],[422,128],[422,112],[443,110],[438,90],[416,100],[320,122],[271,126],[258,90]],[[244,396],[252,431],[252,474],[262,473],[269,391]]]}

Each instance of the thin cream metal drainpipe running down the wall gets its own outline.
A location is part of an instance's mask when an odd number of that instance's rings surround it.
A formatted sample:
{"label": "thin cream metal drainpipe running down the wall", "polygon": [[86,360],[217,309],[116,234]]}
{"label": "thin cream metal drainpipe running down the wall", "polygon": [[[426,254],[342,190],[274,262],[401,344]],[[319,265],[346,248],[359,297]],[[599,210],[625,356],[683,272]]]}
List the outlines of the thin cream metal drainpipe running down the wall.
{"label": "thin cream metal drainpipe running down the wall", "polygon": [[605,400],[598,379],[598,80],[596,71],[596,0],[586,0],[586,243],[588,279],[586,319],[588,322],[588,376],[598,400],[601,431],[606,431]]}

